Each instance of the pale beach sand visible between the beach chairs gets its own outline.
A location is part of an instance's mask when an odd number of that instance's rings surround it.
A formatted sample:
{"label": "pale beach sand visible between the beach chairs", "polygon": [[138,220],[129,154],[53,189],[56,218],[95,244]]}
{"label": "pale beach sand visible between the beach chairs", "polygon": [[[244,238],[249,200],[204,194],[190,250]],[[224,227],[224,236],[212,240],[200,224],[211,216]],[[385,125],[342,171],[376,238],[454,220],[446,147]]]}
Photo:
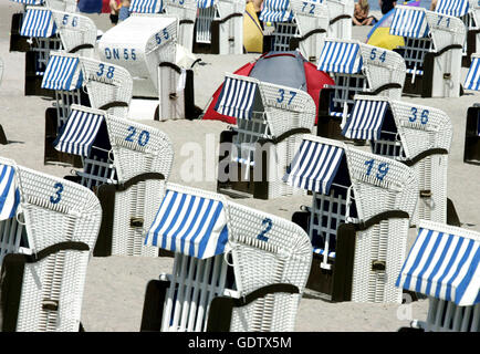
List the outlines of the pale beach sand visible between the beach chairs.
{"label": "pale beach sand visible between the beach chairs", "polygon": [[[11,14],[20,6],[0,2],[0,58],[4,62],[3,81],[0,85],[0,124],[10,144],[0,145],[0,156],[13,158],[18,164],[63,177],[71,167],[43,165],[44,111],[50,100],[23,95],[24,54],[9,53]],[[107,30],[107,15],[90,15],[98,29]],[[371,28],[354,28],[354,38],[365,40]],[[196,104],[205,107],[211,94],[223,81],[225,72],[232,72],[258,55],[198,55],[207,65],[198,66],[195,74]],[[462,69],[463,77],[467,70]],[[480,102],[478,94],[460,98],[410,98],[405,101],[438,107],[445,111],[453,124],[453,139],[449,155],[448,195],[453,200],[465,227],[480,230],[479,198],[480,184],[478,166],[462,162],[465,122],[469,106]],[[186,143],[218,145],[219,134],[228,125],[211,121],[169,121],[142,123],[157,127],[169,135],[175,147],[175,163],[170,181],[216,190],[215,170],[205,168],[216,154],[204,153],[202,180],[182,180],[180,171],[189,156],[181,154]],[[211,143],[213,140],[213,143]],[[206,143],[206,142],[209,143]],[[184,166],[185,167],[185,166]],[[207,178],[209,177],[209,178]],[[273,200],[237,199],[238,202],[255,207],[290,219],[302,204],[309,205],[309,197],[278,198]],[[409,232],[408,247],[416,232]],[[93,258],[88,264],[82,308],[82,322],[86,331],[138,331],[142,317],[144,292],[147,282],[161,272],[171,269],[169,258]],[[411,305],[328,303],[316,299],[302,299],[296,319],[296,331],[397,331],[413,319],[425,319],[428,301],[420,300]]]}

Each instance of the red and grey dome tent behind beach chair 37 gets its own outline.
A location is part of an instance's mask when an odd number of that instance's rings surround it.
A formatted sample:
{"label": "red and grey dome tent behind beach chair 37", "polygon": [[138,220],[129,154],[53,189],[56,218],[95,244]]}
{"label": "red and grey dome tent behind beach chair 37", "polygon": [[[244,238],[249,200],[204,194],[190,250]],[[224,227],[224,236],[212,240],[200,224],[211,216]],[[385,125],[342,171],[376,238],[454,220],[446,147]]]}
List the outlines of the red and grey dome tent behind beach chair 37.
{"label": "red and grey dome tent behind beach chair 37", "polygon": [[[279,75],[279,73],[282,73],[282,75]],[[298,51],[265,53],[254,63],[248,63],[237,70],[234,74],[252,76],[260,81],[294,88],[303,87],[315,102],[317,113],[320,91],[324,85],[334,84],[334,81],[328,76],[328,74],[317,71],[316,66],[307,62]],[[210,104],[205,112],[204,119],[216,119],[229,124],[236,124],[234,117],[219,114],[213,110],[222,87],[223,84],[221,84],[215,92]]]}

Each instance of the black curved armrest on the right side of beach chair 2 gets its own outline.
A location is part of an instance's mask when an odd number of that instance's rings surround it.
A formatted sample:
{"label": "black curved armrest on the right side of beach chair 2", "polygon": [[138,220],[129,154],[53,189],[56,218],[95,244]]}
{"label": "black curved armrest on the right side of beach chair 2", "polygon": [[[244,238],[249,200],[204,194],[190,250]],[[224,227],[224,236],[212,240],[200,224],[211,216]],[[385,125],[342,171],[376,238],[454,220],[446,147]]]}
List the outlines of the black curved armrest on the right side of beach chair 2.
{"label": "black curved armrest on the right side of beach chair 2", "polygon": [[293,284],[275,283],[259,288],[240,299],[217,296],[210,303],[207,332],[229,332],[233,308],[242,308],[268,294],[299,294],[300,289]]}

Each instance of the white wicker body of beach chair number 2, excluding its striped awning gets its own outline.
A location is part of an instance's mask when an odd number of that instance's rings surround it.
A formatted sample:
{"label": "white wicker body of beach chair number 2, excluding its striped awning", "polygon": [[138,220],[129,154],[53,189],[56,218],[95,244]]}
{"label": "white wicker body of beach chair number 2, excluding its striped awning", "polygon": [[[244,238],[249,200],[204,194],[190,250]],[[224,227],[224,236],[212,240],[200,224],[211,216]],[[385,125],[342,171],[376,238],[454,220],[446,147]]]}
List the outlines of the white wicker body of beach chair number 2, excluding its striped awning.
{"label": "white wicker body of beach chair number 2, excluding its striped awning", "polygon": [[140,331],[293,331],[312,261],[305,232],[218,194],[167,188],[223,204],[229,251],[205,260],[176,253],[173,274],[147,287]]}

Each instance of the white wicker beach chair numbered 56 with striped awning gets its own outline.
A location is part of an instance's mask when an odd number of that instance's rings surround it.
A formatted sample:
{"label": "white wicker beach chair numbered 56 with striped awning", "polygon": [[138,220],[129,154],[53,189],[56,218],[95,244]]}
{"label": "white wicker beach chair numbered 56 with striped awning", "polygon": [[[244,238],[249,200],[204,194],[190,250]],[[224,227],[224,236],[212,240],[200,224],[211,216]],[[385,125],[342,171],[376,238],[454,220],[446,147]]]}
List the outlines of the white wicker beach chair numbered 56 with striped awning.
{"label": "white wicker beach chair numbered 56 with striped awning", "polygon": [[51,51],[92,56],[96,42],[90,18],[45,7],[27,7],[20,34],[32,42],[25,54],[25,95],[52,94],[41,87]]}

